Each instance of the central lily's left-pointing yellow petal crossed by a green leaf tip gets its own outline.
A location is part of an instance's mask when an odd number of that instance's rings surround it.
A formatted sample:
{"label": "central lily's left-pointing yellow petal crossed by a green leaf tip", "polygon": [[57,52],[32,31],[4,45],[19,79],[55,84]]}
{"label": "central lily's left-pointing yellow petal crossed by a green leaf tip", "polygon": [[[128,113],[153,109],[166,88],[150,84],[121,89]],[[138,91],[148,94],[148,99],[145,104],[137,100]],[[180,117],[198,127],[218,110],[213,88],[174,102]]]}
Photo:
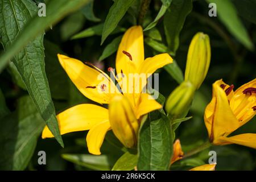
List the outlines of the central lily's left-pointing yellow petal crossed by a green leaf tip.
{"label": "central lily's left-pointing yellow petal crossed by a green leaf tip", "polygon": [[[73,131],[89,130],[100,122],[109,120],[108,109],[93,104],[80,104],[73,106],[57,115],[60,134],[71,133]],[[51,131],[46,126],[42,133],[42,138],[53,137]]]}

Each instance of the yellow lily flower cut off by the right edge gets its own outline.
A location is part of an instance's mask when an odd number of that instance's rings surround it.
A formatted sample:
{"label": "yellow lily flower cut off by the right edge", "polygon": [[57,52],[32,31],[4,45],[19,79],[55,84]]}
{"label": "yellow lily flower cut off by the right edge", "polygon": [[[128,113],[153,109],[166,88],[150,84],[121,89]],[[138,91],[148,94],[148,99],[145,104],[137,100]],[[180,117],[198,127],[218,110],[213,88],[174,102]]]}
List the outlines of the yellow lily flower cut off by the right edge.
{"label": "yellow lily flower cut off by the right edge", "polygon": [[256,134],[228,137],[256,114],[256,78],[233,92],[234,85],[222,80],[213,84],[212,101],[205,109],[204,122],[210,142],[216,145],[241,144],[256,149]]}

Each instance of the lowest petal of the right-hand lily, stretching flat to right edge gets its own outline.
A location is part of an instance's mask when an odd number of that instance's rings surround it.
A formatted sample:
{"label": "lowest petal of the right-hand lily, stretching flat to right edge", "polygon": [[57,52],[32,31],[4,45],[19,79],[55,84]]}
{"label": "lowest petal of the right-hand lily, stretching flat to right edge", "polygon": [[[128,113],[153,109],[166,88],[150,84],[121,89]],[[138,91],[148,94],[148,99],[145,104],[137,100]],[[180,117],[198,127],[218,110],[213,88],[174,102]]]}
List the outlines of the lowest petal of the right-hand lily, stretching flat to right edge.
{"label": "lowest petal of the right-hand lily, stretching flat to right edge", "polygon": [[253,133],[240,134],[240,135],[235,135],[233,137],[220,137],[218,141],[221,144],[236,143],[242,146],[256,149],[256,134],[253,134]]}

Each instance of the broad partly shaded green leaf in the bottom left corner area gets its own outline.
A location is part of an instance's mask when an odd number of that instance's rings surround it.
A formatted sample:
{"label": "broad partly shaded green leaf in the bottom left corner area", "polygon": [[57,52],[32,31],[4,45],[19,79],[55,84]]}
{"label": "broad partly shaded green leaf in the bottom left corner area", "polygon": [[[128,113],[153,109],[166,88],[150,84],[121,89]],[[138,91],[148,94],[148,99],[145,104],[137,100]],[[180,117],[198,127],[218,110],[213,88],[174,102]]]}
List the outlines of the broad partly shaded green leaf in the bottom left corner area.
{"label": "broad partly shaded green leaf in the bottom left corner area", "polygon": [[45,123],[29,96],[18,100],[18,109],[1,119],[0,169],[23,170],[34,154]]}

